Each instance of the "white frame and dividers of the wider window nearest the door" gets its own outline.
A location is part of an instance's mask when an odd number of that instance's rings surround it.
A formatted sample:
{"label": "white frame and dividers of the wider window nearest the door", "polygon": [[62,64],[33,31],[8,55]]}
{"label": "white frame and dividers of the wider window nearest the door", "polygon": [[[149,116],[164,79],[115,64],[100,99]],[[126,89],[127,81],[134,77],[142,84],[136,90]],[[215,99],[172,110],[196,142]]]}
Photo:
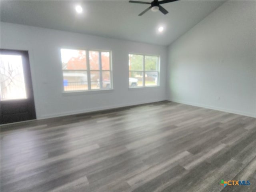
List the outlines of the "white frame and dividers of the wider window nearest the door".
{"label": "white frame and dividers of the wider window nearest the door", "polygon": [[[90,48],[60,48],[60,58],[61,58],[61,50],[62,49],[69,49],[69,50],[83,50],[86,54],[86,69],[76,69],[76,70],[68,70],[62,68],[62,91],[63,93],[77,93],[77,92],[94,92],[94,91],[108,91],[113,90],[113,72],[112,72],[112,51],[111,50],[99,50],[99,49],[90,49]],[[99,70],[91,70],[90,69],[90,58],[89,58],[89,52],[95,51],[99,52]],[[101,53],[102,52],[109,52],[109,70],[102,70],[102,58]],[[61,58],[61,64],[62,64],[62,58]],[[62,65],[61,65],[62,66]],[[66,91],[64,88],[64,71],[81,71],[84,72],[84,74],[87,75],[87,90],[70,90]],[[100,85],[98,89],[92,89],[91,86],[91,72],[99,72],[100,73]],[[110,73],[110,88],[103,88],[102,86],[102,72],[109,72]]]}

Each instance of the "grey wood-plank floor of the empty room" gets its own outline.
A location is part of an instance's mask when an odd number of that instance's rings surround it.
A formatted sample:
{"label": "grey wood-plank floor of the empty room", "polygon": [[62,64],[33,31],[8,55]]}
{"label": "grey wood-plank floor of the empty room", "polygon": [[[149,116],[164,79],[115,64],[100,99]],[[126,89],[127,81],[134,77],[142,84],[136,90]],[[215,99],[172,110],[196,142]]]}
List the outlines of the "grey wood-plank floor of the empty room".
{"label": "grey wood-plank floor of the empty room", "polygon": [[256,119],[158,102],[1,126],[13,191],[256,191]]}

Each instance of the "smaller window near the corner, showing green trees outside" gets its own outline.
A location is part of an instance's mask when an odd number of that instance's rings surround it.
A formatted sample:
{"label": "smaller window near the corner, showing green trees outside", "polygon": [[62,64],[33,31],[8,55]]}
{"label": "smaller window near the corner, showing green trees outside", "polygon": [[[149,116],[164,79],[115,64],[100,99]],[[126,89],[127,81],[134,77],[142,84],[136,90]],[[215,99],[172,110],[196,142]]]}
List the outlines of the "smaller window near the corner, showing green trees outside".
{"label": "smaller window near the corner, showing green trees outside", "polygon": [[129,54],[129,87],[158,86],[159,56]]}

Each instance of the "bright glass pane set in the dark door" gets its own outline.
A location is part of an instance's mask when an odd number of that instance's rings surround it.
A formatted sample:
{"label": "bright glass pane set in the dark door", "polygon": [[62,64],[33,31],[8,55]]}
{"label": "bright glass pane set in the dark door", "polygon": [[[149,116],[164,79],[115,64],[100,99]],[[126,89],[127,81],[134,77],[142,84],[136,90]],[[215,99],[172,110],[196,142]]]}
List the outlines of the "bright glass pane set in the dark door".
{"label": "bright glass pane set in the dark door", "polygon": [[27,98],[20,55],[1,55],[0,74],[1,100]]}

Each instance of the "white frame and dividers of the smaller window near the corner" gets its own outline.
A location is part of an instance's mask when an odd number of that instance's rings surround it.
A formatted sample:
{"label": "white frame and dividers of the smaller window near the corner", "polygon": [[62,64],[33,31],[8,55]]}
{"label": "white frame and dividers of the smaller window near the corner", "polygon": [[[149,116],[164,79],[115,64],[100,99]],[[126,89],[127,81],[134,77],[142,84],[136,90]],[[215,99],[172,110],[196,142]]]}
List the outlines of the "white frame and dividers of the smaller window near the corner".
{"label": "white frame and dividers of the smaller window near the corner", "polygon": [[[128,70],[129,74],[130,72],[141,72],[142,73],[142,86],[135,86],[132,87],[130,86],[130,82],[128,80],[128,86],[129,89],[134,89],[134,88],[150,88],[150,87],[159,87],[160,86],[160,55],[153,55],[153,54],[141,54],[141,53],[129,53],[128,54],[128,64],[129,64],[129,55],[140,55],[142,56],[142,70]],[[156,70],[145,70],[145,56],[154,56],[157,57],[157,66],[156,66]],[[128,65],[129,66],[129,65]],[[146,72],[156,72],[158,74],[157,76],[157,85],[151,85],[151,86],[146,86]],[[129,75],[130,78],[130,75]]]}

